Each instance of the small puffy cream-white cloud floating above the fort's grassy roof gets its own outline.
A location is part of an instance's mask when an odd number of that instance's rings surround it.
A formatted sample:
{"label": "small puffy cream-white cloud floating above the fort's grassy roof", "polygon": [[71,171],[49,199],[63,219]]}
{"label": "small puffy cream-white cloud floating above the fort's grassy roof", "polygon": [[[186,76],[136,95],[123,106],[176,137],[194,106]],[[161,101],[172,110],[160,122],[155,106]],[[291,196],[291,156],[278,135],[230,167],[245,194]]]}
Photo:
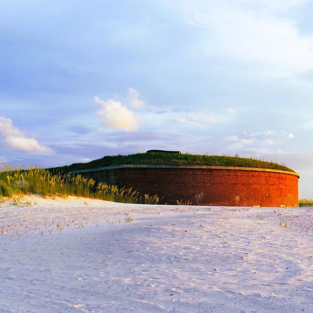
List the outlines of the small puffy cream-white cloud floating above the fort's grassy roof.
{"label": "small puffy cream-white cloud floating above the fort's grassy roof", "polygon": [[103,101],[97,96],[94,97],[94,101],[101,106],[97,115],[103,118],[103,124],[106,127],[121,129],[126,132],[132,132],[138,128],[141,119],[121,102],[111,99]]}

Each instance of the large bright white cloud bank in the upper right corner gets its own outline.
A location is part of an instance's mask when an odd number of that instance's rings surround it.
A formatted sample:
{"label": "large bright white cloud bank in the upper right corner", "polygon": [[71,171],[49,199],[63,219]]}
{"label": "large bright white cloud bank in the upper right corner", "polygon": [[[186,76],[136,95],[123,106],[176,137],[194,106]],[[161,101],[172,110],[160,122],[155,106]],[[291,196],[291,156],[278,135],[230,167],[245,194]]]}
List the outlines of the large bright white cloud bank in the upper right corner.
{"label": "large bright white cloud bank in the upper right corner", "polygon": [[170,0],[166,4],[203,29],[204,54],[254,64],[261,72],[281,77],[313,66],[313,37],[301,36],[296,24],[282,14],[304,2]]}

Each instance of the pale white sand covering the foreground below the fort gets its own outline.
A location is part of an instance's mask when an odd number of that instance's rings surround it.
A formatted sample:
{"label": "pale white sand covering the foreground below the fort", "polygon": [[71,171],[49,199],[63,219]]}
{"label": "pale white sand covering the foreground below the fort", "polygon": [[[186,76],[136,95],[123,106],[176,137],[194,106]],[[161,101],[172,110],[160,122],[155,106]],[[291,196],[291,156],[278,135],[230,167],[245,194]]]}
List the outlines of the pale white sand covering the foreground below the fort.
{"label": "pale white sand covering the foreground below the fort", "polygon": [[313,312],[312,210],[27,202],[0,203],[0,313]]}

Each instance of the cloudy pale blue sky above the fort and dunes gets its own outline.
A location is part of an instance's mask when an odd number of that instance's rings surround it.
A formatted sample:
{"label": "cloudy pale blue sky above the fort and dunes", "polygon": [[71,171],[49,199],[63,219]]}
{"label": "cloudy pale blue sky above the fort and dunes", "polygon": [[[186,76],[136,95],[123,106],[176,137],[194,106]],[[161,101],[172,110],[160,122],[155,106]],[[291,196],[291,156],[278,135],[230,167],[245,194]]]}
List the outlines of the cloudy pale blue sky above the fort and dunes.
{"label": "cloudy pale blue sky above the fort and dunes", "polygon": [[284,163],[313,198],[313,1],[1,0],[0,162]]}

